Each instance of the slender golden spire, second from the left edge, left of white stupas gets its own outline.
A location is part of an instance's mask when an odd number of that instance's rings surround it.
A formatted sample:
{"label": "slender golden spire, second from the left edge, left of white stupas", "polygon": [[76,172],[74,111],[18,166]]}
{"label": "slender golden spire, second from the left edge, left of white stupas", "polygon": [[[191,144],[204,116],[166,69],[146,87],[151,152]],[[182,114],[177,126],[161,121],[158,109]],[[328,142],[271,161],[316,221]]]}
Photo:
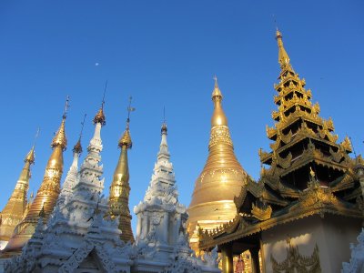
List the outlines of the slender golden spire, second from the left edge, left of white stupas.
{"label": "slender golden spire, second from the left edge, left of white stupas", "polygon": [[[66,109],[67,107],[68,98],[66,101]],[[51,144],[53,152],[45,167],[43,182],[39,187],[35,200],[29,208],[25,218],[15,227],[13,237],[9,240],[9,243],[3,251],[5,256],[18,254],[35,232],[35,226],[39,215],[42,215],[46,221],[56,205],[63,173],[63,152],[66,150],[67,146],[65,122],[66,110],[62,117],[61,126],[59,126]]]}

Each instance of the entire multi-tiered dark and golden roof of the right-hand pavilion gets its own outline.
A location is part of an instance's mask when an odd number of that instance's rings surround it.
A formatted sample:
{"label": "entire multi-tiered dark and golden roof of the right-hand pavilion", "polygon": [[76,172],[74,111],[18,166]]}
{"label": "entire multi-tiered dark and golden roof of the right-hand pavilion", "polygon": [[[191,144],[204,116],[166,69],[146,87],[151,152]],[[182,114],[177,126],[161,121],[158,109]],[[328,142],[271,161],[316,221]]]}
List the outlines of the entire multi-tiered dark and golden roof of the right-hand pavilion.
{"label": "entire multi-tiered dark and golden roof of the right-hand pavilion", "polygon": [[364,167],[358,165],[359,157],[349,157],[349,138],[338,143],[332,120],[319,116],[319,104],[312,104],[305,80],[290,65],[279,31],[276,37],[278,111],[272,114],[274,127],[267,127],[271,151],[259,150],[268,168],[262,167],[258,183],[249,180],[235,198],[238,214],[233,221],[213,231],[200,230],[200,248],[235,240],[241,244],[248,237],[249,244],[256,240],[258,245],[256,235],[262,230],[312,215],[363,217],[359,179]]}

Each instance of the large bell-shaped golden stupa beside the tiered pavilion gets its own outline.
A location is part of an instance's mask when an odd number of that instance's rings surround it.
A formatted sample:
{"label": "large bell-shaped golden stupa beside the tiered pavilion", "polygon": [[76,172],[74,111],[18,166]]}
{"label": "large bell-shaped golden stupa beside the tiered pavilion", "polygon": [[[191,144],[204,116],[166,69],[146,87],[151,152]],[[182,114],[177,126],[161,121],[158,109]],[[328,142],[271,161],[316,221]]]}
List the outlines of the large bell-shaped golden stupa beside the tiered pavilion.
{"label": "large bell-shaped golden stupa beside the tiered pavilion", "polygon": [[211,118],[207,163],[197,177],[192,201],[187,209],[189,243],[195,251],[198,249],[199,227],[212,229],[235,217],[237,209],[234,197],[247,184],[248,177],[234,154],[216,77],[212,101],[214,113]]}

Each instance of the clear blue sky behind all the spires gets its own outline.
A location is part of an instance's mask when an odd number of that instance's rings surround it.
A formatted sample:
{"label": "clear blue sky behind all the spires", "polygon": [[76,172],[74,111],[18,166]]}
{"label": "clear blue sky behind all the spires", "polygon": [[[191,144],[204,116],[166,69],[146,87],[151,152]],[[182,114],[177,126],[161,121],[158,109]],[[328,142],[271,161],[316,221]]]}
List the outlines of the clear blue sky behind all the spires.
{"label": "clear blue sky behind all the spires", "polygon": [[362,153],[362,1],[2,1],[0,209],[40,126],[30,181],[36,193],[69,95],[63,182],[84,113],[86,151],[106,79],[106,195],[131,95],[136,107],[129,152],[131,210],[144,197],[152,174],[163,106],[179,199],[188,206],[207,159],[214,74],[238,160],[258,178],[258,148],[268,150],[266,125],[273,125],[271,112],[277,109],[273,14],[321,116],[332,116],[339,141],[351,136]]}

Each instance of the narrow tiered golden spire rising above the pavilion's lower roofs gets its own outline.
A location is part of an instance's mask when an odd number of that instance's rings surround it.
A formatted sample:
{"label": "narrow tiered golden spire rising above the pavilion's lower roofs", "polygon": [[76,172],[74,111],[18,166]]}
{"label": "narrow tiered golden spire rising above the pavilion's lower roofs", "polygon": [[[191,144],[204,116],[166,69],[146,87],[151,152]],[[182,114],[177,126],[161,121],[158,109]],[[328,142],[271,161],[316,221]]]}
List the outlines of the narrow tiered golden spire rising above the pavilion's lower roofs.
{"label": "narrow tiered golden spire rising above the pavilion's lower roofs", "polygon": [[319,103],[311,102],[305,79],[300,79],[290,65],[278,30],[276,38],[281,69],[275,85],[278,96],[274,97],[278,111],[272,113],[275,126],[267,127],[268,138],[274,143],[270,153],[260,150],[259,157],[261,163],[270,166],[263,169],[262,177],[280,184],[271,187],[286,198],[298,198],[298,192],[308,187],[312,172],[321,186],[332,186],[331,182],[346,172],[352,148],[348,137],[337,143],[331,118],[319,116]]}

